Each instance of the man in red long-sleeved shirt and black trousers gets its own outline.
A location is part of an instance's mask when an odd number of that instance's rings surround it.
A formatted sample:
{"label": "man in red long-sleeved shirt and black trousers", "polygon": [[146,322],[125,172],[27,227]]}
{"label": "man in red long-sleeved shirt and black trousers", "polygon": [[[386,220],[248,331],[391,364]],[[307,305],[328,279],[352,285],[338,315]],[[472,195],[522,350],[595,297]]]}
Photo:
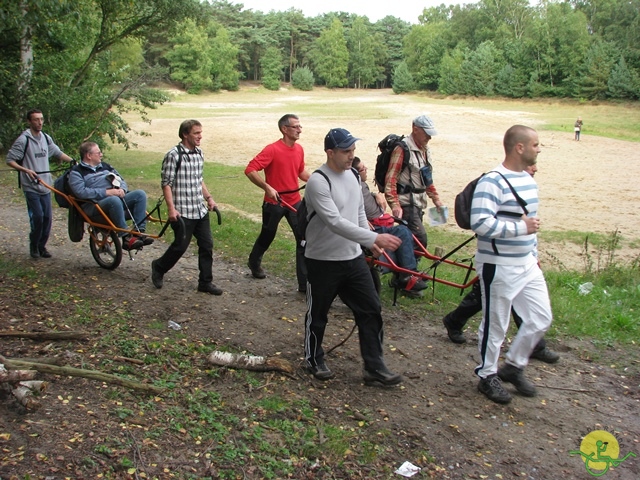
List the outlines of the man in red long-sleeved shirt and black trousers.
{"label": "man in red long-sleeved shirt and black trousers", "polygon": [[[278,129],[282,133],[282,139],[264,147],[244,171],[252,183],[264,190],[262,230],[249,254],[248,265],[254,278],[266,278],[267,275],[261,266],[262,256],[273,242],[280,220],[285,217],[296,237],[298,291],[304,293],[307,290],[307,273],[304,249],[296,232],[298,220],[295,212],[279,204],[279,200],[282,199],[297,209],[302,201],[298,179],[303,182],[309,179],[309,172],[304,166],[304,150],[296,143],[300,138],[302,126],[300,119],[289,113],[278,120]],[[259,173],[261,170],[264,170],[264,178]]]}

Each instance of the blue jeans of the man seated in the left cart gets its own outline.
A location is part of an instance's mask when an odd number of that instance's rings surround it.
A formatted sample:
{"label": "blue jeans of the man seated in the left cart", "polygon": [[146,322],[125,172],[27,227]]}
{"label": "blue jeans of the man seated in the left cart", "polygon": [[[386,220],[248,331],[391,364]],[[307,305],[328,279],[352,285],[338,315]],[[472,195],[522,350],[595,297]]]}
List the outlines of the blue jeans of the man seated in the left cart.
{"label": "blue jeans of the man seated in the left cart", "polygon": [[[128,210],[125,208],[127,204]],[[144,190],[134,190],[124,196],[124,201],[120,197],[107,197],[98,202],[102,211],[109,217],[113,224],[124,230],[129,229],[127,219],[133,215],[133,221],[138,230],[145,230],[147,225],[147,194]],[[93,204],[85,204],[84,210],[92,220],[104,222],[104,218]],[[124,235],[123,232],[119,233]]]}

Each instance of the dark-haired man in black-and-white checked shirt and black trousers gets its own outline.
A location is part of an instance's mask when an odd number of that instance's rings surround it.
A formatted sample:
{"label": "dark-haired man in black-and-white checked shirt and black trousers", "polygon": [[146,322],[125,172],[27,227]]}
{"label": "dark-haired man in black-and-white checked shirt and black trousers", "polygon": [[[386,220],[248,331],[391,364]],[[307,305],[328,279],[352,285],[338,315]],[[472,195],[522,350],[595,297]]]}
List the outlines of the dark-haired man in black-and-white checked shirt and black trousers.
{"label": "dark-haired man in black-and-white checked shirt and black trousers", "polygon": [[[198,291],[222,295],[213,284],[213,235],[209,211],[216,202],[203,179],[204,155],[200,150],[202,124],[185,120],[178,130],[181,142],[162,161],[161,185],[167,202],[167,220],[171,222],[175,240],[167,251],[151,262],[151,281],[162,288],[164,274],[173,268],[189,248],[191,237],[198,242]],[[182,222],[178,222],[178,218]]]}

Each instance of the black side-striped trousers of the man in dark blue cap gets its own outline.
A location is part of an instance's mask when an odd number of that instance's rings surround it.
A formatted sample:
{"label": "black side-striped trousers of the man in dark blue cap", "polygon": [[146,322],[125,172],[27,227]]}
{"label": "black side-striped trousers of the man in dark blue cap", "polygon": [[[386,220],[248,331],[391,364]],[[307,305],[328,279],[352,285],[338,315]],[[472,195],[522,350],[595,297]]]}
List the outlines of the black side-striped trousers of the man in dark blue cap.
{"label": "black side-striped trousers of the man in dark blue cap", "polygon": [[360,340],[360,354],[367,370],[384,367],[382,356],[382,307],[364,256],[353,260],[307,261],[307,314],[304,355],[310,366],[324,361],[322,340],[327,315],[336,296],[351,309]]}

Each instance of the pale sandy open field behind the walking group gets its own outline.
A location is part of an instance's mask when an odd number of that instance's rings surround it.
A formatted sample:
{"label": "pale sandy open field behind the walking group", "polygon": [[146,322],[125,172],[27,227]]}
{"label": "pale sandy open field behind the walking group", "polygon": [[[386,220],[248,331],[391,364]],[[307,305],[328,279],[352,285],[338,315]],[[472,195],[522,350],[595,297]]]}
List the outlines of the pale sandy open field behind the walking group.
{"label": "pale sandy open field behind the walking group", "polygon": [[[309,168],[324,161],[322,141],[333,127],[347,128],[362,138],[356,154],[373,166],[381,138],[391,132],[408,134],[412,118],[427,113],[438,129],[431,140],[435,183],[441,198],[452,207],[456,193],[468,181],[502,160],[504,132],[511,125],[524,124],[539,130],[542,143],[536,179],[543,230],[610,233],[618,229],[626,240],[640,238],[638,145],[589,135],[589,118],[584,116],[586,132],[576,142],[572,131],[545,131],[539,116],[524,110],[487,110],[473,100],[460,100],[460,106],[443,105],[394,95],[391,90],[265,93],[245,87],[240,92],[195,98],[178,97],[157,114],[151,112],[151,118],[159,117],[151,125],[132,123],[134,129],[151,133],[135,139],[139,148],[162,155],[177,143],[180,121],[192,117],[203,123],[202,145],[208,160],[245,165],[264,145],[279,138],[277,120],[291,112],[300,115],[304,127],[300,144]],[[176,117],[167,118],[172,111]],[[446,228],[458,227],[451,219]]]}

